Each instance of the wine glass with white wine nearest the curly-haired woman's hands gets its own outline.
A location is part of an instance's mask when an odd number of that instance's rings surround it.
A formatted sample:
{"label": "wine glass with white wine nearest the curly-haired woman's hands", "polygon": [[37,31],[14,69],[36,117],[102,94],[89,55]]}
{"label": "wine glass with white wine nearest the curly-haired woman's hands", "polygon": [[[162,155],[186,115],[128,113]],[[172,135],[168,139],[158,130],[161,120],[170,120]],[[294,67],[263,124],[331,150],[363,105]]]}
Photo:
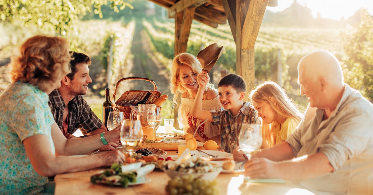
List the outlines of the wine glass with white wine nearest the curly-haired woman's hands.
{"label": "wine glass with white wine nearest the curly-haired woman's hands", "polygon": [[129,152],[129,157],[132,158],[133,152],[140,144],[142,134],[140,120],[133,120],[131,123],[122,124],[122,127],[120,128],[120,142],[126,151]]}

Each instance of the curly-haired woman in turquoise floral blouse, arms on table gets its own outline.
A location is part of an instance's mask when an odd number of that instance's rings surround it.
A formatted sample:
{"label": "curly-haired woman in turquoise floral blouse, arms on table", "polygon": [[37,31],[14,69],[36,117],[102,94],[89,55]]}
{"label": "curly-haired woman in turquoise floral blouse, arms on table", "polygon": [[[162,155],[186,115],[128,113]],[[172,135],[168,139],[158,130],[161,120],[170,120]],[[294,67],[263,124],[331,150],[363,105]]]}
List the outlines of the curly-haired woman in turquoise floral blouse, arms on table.
{"label": "curly-haired woman in turquoise floral blouse, arms on table", "polygon": [[54,193],[49,176],[123,163],[118,151],[69,157],[119,141],[120,130],[66,139],[54,122],[48,94],[70,72],[68,41],[37,35],[19,51],[10,63],[12,84],[0,95],[0,194]]}

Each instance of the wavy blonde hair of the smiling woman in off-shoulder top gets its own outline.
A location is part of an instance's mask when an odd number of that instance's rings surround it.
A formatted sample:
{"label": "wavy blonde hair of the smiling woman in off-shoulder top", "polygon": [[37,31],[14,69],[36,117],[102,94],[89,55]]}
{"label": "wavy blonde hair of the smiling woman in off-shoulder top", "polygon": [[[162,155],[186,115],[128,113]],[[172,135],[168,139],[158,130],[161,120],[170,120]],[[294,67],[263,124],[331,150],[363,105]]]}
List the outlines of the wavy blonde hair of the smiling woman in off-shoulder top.
{"label": "wavy blonde hair of the smiling woman in off-shoulder top", "polygon": [[[175,107],[178,106],[178,91],[179,92],[187,92],[187,90],[179,83],[179,71],[181,66],[189,66],[194,73],[201,73],[202,66],[198,59],[190,54],[190,53],[180,53],[175,56],[172,60],[172,68],[171,68],[171,92],[173,93],[173,102],[175,103]],[[213,89],[214,85],[209,82],[207,84],[206,90]]]}

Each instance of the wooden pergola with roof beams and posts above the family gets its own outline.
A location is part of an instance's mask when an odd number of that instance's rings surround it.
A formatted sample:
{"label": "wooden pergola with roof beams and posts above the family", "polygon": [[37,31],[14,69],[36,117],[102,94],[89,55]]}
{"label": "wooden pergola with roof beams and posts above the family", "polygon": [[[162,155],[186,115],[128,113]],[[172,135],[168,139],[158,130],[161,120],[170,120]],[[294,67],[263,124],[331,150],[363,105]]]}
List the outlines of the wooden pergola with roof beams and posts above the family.
{"label": "wooden pergola with roof beams and posts above the family", "polygon": [[277,6],[277,0],[149,1],[166,7],[168,17],[175,18],[175,55],[186,52],[193,19],[213,28],[228,19],[236,43],[236,73],[246,81],[246,94],[254,88],[254,44],[266,7]]}

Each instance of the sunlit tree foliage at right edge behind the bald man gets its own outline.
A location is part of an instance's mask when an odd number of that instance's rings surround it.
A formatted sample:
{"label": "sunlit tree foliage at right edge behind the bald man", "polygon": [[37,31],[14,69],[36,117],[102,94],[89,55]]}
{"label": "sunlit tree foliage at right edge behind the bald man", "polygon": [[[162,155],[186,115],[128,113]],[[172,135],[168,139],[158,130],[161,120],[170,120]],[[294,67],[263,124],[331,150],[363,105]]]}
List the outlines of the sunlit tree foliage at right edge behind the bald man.
{"label": "sunlit tree foliage at right edge behind the bald man", "polygon": [[[373,18],[367,10],[360,13],[360,22],[342,33],[344,50],[348,56],[347,67],[356,72],[360,69],[363,91],[369,100],[373,100]],[[358,77],[359,74],[357,74]],[[360,80],[361,79],[361,80]]]}

